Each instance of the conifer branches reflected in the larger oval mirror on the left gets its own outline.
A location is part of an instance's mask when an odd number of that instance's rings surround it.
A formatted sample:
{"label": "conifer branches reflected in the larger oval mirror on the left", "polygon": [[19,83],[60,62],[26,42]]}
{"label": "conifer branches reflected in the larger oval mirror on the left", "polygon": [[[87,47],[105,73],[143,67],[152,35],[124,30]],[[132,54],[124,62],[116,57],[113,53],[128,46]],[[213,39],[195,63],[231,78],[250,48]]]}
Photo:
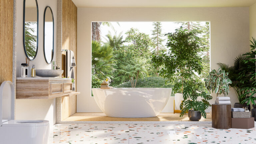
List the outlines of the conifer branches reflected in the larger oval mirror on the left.
{"label": "conifer branches reflected in the larger oval mirror on the left", "polygon": [[36,41],[37,36],[32,33],[35,32],[31,25],[36,24],[36,22],[25,22],[25,47],[29,58],[33,59],[36,55]]}

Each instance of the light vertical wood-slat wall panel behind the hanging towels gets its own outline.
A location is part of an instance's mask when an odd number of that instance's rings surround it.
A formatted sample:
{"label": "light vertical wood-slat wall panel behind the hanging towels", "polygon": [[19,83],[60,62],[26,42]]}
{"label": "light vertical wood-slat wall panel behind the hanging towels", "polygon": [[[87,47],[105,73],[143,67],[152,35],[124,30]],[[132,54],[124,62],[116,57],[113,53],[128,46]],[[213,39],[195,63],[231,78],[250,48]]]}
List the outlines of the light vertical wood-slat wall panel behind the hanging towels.
{"label": "light vertical wood-slat wall panel behind the hanging towels", "polygon": [[[62,49],[72,50],[75,54],[77,64],[77,7],[72,0],[62,0]],[[76,68],[75,79],[77,79]],[[74,113],[76,113],[76,95],[62,97],[61,120]]]}

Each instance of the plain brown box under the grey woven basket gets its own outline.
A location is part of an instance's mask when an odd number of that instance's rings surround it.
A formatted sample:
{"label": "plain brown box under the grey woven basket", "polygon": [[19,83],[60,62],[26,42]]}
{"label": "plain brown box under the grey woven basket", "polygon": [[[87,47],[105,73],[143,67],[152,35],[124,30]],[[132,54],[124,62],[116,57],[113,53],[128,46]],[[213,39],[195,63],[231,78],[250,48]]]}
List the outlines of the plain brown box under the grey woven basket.
{"label": "plain brown box under the grey woven basket", "polygon": [[231,118],[232,128],[250,129],[254,128],[254,117],[250,118]]}

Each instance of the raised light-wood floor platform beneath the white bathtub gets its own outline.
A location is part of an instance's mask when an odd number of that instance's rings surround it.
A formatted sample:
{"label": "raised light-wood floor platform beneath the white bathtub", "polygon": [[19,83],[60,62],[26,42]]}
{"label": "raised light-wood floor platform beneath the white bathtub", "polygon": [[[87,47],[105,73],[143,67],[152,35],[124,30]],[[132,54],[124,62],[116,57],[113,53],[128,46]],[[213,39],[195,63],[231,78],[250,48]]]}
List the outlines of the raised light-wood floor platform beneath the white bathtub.
{"label": "raised light-wood floor platform beneath the white bathtub", "polygon": [[[179,113],[160,113],[157,117],[150,118],[113,118],[104,113],[75,113],[64,121],[189,121],[189,118],[187,114],[180,117]],[[210,113],[207,113],[206,119],[202,117],[200,121],[212,121]]]}

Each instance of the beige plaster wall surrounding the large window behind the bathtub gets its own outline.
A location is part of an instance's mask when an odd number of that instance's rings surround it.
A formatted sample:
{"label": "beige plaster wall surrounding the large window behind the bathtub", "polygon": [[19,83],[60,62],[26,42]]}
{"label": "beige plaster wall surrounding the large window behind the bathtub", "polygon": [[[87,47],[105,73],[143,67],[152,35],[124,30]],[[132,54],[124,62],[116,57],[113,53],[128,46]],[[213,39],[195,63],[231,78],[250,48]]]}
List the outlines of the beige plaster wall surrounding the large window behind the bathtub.
{"label": "beige plaster wall surrounding the large window behind the bathtub", "polygon": [[[77,112],[101,112],[91,97],[92,21],[210,21],[212,69],[217,68],[218,62],[232,65],[233,59],[249,47],[249,7],[78,8],[77,91],[81,94],[77,96]],[[233,105],[238,100],[234,90],[230,91]]]}

